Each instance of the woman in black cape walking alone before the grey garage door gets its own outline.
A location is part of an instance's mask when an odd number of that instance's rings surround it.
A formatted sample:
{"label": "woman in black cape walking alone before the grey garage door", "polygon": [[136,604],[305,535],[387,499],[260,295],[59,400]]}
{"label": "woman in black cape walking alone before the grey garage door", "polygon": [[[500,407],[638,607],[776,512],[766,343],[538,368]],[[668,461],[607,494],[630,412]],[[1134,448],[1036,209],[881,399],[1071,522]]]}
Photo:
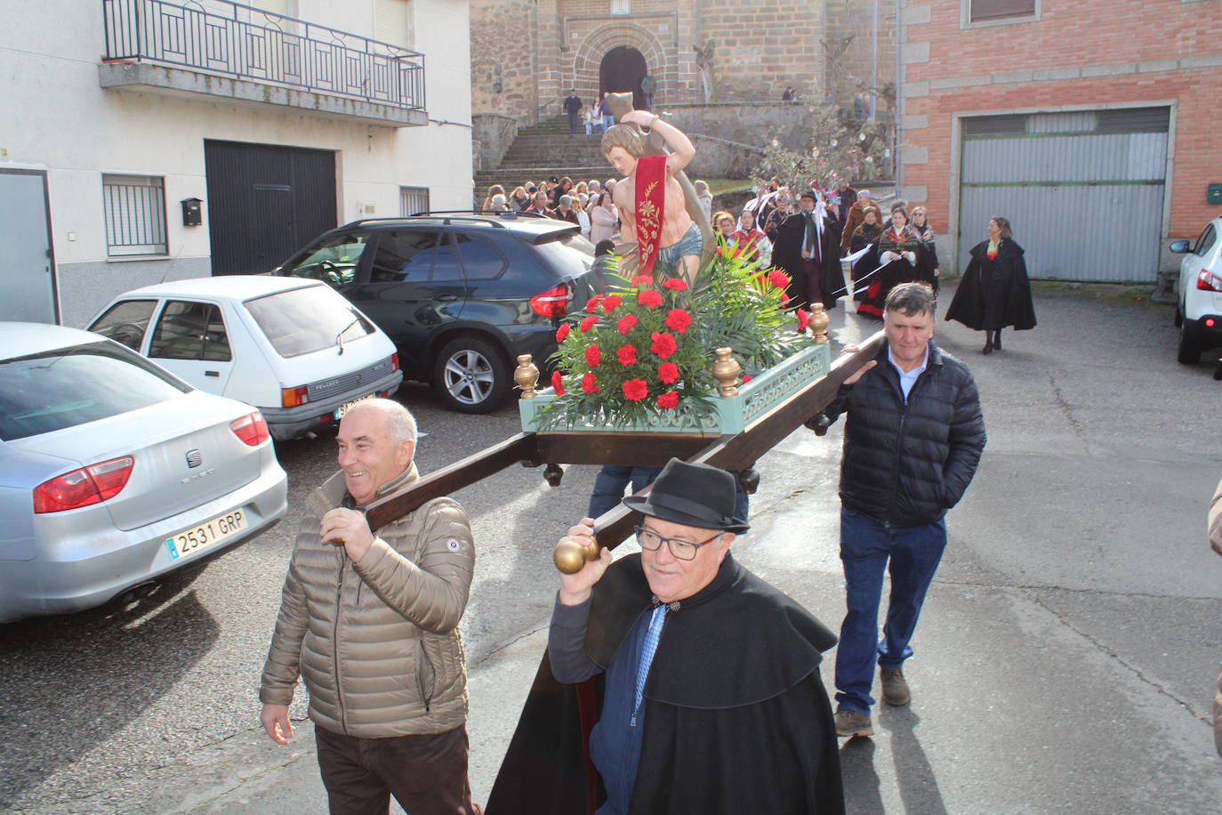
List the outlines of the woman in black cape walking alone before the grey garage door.
{"label": "woman in black cape walking alone before the grey garage door", "polygon": [[1026,279],[1023,247],[1014,242],[1009,221],[989,221],[989,239],[971,247],[971,260],[954,292],[946,319],[985,332],[982,353],[1001,351],[1001,330],[1035,327],[1031,282]]}

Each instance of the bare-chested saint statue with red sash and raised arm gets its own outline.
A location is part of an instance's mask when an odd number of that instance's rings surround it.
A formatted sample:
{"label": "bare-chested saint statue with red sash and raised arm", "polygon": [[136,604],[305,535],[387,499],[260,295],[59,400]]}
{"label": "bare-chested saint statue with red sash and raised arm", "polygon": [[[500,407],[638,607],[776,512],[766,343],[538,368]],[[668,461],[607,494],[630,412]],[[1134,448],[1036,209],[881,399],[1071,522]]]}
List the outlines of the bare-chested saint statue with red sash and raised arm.
{"label": "bare-chested saint statue with red sash and raised arm", "polygon": [[[611,94],[607,101],[620,122],[602,134],[602,154],[623,175],[611,196],[627,242],[616,252],[626,258],[621,269],[635,268],[659,281],[682,276],[694,286],[716,248],[683,172],[695,148],[661,116],[633,110],[631,93]],[[649,128],[648,136],[642,128]]]}

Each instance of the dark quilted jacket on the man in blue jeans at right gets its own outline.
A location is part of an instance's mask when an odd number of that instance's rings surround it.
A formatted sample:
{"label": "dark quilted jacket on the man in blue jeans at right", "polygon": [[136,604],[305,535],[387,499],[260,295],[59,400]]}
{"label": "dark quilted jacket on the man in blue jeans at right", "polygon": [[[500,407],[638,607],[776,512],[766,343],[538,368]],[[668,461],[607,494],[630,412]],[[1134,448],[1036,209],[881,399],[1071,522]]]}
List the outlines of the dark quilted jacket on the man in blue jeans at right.
{"label": "dark quilted jacket on the man in blue jeans at right", "polygon": [[877,360],[825,411],[833,420],[848,414],[841,501],[892,527],[934,523],[959,502],[980,462],[980,393],[968,368],[932,342],[907,404],[886,345]]}

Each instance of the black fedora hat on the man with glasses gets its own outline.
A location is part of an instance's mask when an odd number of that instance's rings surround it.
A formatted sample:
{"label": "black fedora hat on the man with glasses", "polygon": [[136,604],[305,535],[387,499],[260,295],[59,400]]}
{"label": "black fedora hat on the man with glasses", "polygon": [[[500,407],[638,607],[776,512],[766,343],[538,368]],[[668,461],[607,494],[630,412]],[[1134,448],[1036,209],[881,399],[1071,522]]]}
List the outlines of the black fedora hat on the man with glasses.
{"label": "black fedora hat on the man with glasses", "polygon": [[733,475],[711,464],[689,464],[678,458],[666,462],[648,494],[628,496],[623,505],[684,527],[734,533],[750,528],[734,517]]}

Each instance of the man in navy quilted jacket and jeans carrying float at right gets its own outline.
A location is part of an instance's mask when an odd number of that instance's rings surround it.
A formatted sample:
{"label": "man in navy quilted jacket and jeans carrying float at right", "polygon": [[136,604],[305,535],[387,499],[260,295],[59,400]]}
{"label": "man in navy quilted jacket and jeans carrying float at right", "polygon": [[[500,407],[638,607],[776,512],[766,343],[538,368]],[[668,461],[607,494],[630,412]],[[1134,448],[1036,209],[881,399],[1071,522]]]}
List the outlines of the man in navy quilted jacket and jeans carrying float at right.
{"label": "man in navy quilted jacket and jeans carrying float at right", "polygon": [[[946,549],[946,511],[959,502],[985,446],[980,395],[968,368],[932,342],[934,292],[901,283],[884,308],[887,342],[844,380],[826,414],[847,413],[841,463],[841,561],[848,613],[836,651],[836,729],[873,736],[874,666],[882,699],[912,698],[902,665]],[[846,352],[854,351],[852,346]],[[891,598],[882,639],[882,574]]]}

